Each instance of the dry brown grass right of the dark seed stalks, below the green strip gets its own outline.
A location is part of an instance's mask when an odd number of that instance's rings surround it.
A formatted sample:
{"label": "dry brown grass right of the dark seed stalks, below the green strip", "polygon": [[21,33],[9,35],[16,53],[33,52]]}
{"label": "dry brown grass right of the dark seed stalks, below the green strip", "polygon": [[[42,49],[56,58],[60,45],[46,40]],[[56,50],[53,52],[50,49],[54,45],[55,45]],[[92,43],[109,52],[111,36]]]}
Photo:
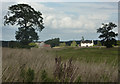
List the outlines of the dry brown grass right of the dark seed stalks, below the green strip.
{"label": "dry brown grass right of the dark seed stalks, below the green strip", "polygon": [[79,75],[82,82],[117,82],[118,67],[110,66],[106,63],[83,63],[75,62],[79,67]]}

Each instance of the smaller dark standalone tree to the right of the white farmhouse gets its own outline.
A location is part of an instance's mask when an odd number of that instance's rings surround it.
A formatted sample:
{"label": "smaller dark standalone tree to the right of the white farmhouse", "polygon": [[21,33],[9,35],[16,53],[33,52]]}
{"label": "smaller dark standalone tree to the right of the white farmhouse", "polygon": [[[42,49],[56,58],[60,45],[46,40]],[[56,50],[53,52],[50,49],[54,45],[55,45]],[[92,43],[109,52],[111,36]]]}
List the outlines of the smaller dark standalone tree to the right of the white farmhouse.
{"label": "smaller dark standalone tree to the right of the white farmhouse", "polygon": [[102,26],[97,29],[97,33],[100,33],[99,38],[102,39],[101,42],[107,47],[111,48],[113,45],[116,44],[115,37],[118,35],[114,31],[112,31],[115,27],[117,27],[116,24],[109,22],[109,23],[102,23]]}

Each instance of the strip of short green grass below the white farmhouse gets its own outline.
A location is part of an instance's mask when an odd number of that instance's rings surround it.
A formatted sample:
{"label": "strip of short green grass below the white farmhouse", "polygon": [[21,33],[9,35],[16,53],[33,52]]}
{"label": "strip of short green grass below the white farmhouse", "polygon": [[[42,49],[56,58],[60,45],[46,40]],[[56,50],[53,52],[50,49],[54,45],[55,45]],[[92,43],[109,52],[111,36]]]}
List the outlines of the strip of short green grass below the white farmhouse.
{"label": "strip of short green grass below the white farmhouse", "polygon": [[55,54],[63,60],[72,58],[74,61],[118,63],[118,48],[63,48],[56,50]]}

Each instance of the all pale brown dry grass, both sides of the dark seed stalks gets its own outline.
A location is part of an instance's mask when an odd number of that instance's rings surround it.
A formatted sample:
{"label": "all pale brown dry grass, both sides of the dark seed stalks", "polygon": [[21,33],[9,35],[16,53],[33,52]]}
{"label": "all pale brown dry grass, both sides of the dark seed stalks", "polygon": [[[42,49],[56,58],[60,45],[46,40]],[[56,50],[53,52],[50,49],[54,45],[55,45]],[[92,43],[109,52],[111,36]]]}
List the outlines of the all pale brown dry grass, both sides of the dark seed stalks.
{"label": "all pale brown dry grass, both sides of the dark seed stalks", "polygon": [[[34,82],[40,82],[41,70],[45,69],[50,77],[55,66],[55,49],[2,49],[2,81],[22,82],[20,68],[25,65],[35,71]],[[117,82],[118,67],[106,63],[86,63],[74,61],[79,68],[78,76],[82,82]],[[76,77],[77,78],[77,77]]]}

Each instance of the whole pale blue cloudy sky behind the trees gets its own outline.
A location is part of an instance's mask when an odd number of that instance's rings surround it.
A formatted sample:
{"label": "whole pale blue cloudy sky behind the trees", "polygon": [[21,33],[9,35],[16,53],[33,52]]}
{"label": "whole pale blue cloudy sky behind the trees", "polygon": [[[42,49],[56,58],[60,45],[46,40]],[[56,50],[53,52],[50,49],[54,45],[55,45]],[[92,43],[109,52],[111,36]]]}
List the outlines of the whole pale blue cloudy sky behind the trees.
{"label": "whole pale blue cloudy sky behind the trees", "polygon": [[[48,2],[47,2],[48,1]],[[15,32],[18,26],[4,26],[3,17],[8,7],[18,3],[27,3],[35,10],[43,14],[45,28],[38,33],[40,41],[52,38],[60,38],[61,41],[99,40],[97,29],[102,23],[113,22],[118,25],[118,3],[117,0],[104,0],[105,2],[2,2],[2,36],[0,40],[15,40]],[[77,0],[76,0],[77,1]],[[102,0],[101,0],[102,1]],[[118,32],[118,28],[114,30]]]}

